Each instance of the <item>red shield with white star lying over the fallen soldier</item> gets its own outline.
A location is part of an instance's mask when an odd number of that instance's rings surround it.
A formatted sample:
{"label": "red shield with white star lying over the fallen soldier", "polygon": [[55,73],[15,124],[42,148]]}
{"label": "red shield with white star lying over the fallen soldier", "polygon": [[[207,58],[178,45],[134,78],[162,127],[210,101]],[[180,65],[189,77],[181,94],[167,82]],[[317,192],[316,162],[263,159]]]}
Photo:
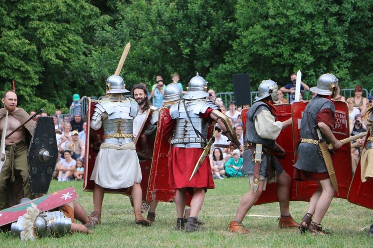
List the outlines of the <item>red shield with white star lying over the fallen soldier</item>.
{"label": "red shield with white star lying over the fallen soldier", "polygon": [[31,203],[34,203],[40,211],[48,211],[76,199],[78,199],[77,192],[75,192],[74,187],[71,186],[69,188],[33,199],[27,203],[18,204],[10,208],[3,209],[0,211],[0,227],[17,221],[19,216],[26,213],[26,210],[31,206]]}

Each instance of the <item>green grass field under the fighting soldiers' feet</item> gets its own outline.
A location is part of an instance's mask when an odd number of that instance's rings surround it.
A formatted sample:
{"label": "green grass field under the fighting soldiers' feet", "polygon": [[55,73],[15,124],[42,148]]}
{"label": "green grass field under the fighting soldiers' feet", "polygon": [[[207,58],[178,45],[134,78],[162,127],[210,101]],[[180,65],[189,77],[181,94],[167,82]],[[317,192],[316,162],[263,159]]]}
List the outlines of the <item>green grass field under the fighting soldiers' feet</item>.
{"label": "green grass field under the fighting soldiers' feet", "polygon": [[[82,182],[52,181],[50,192],[73,185],[78,201],[90,213],[93,209],[92,193],[82,191]],[[128,197],[106,194],[103,202],[102,224],[92,235],[72,234],[61,238],[38,239],[21,242],[8,233],[0,233],[0,247],[373,247],[368,230],[358,229],[373,223],[373,212],[345,199],[335,198],[322,225],[332,235],[314,237],[301,235],[297,229],[279,229],[278,203],[254,206],[243,226],[250,235],[227,232],[229,221],[237,210],[241,196],[248,189],[246,178],[215,180],[215,189],[208,190],[199,215],[206,225],[201,232],[174,231],[176,208],[174,203],[159,203],[158,219],[151,227],[134,223],[133,210]],[[308,203],[290,202],[290,212],[296,221],[303,217]],[[252,217],[265,215],[276,217]]]}

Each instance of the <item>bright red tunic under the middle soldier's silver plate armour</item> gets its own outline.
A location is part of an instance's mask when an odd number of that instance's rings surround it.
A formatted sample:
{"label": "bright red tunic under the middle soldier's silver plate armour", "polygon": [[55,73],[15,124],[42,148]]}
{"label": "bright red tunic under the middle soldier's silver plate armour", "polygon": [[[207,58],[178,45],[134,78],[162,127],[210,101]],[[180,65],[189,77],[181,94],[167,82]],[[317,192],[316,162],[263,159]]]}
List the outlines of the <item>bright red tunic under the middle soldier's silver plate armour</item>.
{"label": "bright red tunic under the middle soldier's silver plate armour", "polygon": [[[201,118],[210,118],[212,109],[209,108],[204,114],[200,114]],[[165,131],[173,127],[175,120],[165,123]],[[214,180],[212,179],[212,172],[210,160],[206,157],[199,169],[189,181],[195,164],[201,156],[203,149],[201,148],[181,148],[172,147],[170,151],[168,166],[169,166],[169,186],[171,188],[214,188]]]}

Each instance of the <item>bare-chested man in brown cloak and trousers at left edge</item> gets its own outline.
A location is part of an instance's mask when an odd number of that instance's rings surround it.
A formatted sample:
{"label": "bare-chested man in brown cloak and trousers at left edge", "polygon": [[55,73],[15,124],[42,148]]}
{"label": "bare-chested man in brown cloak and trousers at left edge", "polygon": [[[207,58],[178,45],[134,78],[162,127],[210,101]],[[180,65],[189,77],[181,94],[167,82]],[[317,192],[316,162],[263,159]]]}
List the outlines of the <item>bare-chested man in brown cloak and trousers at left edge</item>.
{"label": "bare-chested man in brown cloak and trousers at left edge", "polygon": [[[13,91],[6,91],[1,98],[4,105],[0,109],[0,133],[2,134],[4,129],[4,121],[6,111],[8,111],[8,122],[6,127],[6,135],[11,133],[17,127],[24,123],[30,118],[30,115],[22,108],[17,107],[17,95]],[[16,199],[16,202],[9,202],[10,199],[7,197],[7,191],[13,185],[18,178],[22,180],[23,197],[34,199],[34,195],[31,195],[28,165],[27,165],[27,151],[31,135],[34,132],[34,123],[32,121],[27,122],[24,127],[15,131],[5,140],[5,154],[6,160],[0,171],[0,210],[10,207],[18,203],[20,199]],[[11,162],[12,164],[11,165]],[[22,198],[22,197],[21,197]]]}

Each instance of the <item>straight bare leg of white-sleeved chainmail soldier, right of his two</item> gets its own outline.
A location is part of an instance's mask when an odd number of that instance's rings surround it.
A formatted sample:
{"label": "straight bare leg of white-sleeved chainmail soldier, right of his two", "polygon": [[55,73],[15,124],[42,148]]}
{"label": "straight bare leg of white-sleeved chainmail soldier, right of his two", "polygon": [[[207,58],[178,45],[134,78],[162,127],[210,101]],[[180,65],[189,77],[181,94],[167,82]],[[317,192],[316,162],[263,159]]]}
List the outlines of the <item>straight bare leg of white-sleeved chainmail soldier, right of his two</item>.
{"label": "straight bare leg of white-sleeved chainmail soldier, right of his two", "polygon": [[280,175],[277,176],[277,179],[278,179],[277,196],[279,197],[280,214],[281,216],[288,216],[290,215],[289,200],[290,200],[291,178],[289,174],[283,171]]}

